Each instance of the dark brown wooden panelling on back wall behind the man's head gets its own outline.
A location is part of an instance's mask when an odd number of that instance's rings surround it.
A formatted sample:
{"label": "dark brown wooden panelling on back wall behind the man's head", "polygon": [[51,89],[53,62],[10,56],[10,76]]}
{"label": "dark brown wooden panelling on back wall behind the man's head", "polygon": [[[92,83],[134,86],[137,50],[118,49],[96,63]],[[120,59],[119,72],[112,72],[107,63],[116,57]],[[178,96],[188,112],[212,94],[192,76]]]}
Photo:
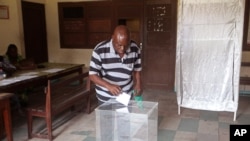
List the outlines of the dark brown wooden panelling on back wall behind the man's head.
{"label": "dark brown wooden panelling on back wall behind the man's head", "polygon": [[143,0],[59,2],[58,11],[62,48],[94,48],[118,24],[127,25],[132,39],[142,42]]}

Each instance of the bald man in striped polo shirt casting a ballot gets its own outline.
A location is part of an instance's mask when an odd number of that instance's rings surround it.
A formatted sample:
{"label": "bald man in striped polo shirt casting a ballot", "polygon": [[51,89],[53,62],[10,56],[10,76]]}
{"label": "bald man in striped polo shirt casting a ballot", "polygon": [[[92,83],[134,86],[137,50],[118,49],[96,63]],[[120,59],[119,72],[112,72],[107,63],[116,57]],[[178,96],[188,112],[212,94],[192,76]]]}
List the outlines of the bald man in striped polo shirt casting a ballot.
{"label": "bald man in striped polo shirt casting a ballot", "polygon": [[122,92],[141,94],[141,51],[130,39],[130,31],[118,25],[112,38],[93,50],[89,78],[96,84],[99,104],[114,99]]}

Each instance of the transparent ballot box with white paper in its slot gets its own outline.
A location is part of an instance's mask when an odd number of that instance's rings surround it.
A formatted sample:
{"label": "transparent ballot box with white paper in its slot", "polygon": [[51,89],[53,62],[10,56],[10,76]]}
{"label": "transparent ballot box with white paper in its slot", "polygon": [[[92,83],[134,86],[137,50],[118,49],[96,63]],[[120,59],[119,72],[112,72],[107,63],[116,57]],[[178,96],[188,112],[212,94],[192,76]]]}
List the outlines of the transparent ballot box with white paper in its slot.
{"label": "transparent ballot box with white paper in its slot", "polygon": [[95,114],[97,141],[157,141],[157,102],[104,103]]}

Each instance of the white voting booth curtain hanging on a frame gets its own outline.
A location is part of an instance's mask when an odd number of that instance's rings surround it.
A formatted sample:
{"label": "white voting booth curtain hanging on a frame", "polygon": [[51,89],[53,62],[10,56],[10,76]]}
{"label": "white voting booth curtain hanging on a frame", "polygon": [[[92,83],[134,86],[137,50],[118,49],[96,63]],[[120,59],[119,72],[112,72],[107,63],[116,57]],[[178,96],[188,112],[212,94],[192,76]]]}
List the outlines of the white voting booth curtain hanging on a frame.
{"label": "white voting booth curtain hanging on a frame", "polygon": [[179,0],[179,107],[237,111],[244,5],[245,0]]}

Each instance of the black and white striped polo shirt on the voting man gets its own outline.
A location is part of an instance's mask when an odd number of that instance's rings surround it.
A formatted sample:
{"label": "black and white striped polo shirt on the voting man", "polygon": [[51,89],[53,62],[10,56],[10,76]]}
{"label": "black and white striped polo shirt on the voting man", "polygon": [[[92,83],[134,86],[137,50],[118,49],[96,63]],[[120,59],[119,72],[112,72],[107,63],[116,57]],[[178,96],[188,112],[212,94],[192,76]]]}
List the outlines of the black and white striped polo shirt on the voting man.
{"label": "black and white striped polo shirt on the voting man", "polygon": [[[134,41],[126,50],[123,58],[114,50],[112,40],[99,43],[93,50],[89,75],[97,74],[111,84],[119,85],[123,92],[132,94],[133,71],[141,71],[141,50]],[[115,98],[108,89],[96,85],[97,98],[107,101]]]}

